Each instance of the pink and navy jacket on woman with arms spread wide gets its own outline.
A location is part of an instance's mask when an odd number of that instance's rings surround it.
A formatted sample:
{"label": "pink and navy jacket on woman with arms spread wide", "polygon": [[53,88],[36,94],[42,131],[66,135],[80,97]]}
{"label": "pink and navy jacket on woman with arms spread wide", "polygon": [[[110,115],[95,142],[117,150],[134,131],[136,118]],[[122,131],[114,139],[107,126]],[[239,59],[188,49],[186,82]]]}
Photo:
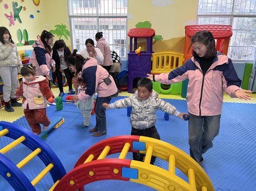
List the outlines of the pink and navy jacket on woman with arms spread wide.
{"label": "pink and navy jacket on woman with arms spread wide", "polygon": [[155,81],[163,84],[177,83],[187,78],[188,110],[197,116],[220,115],[223,90],[230,97],[236,97],[235,91],[241,89],[241,80],[231,59],[223,54],[216,56],[205,76],[202,75],[200,64],[194,57],[170,73],[155,75]]}

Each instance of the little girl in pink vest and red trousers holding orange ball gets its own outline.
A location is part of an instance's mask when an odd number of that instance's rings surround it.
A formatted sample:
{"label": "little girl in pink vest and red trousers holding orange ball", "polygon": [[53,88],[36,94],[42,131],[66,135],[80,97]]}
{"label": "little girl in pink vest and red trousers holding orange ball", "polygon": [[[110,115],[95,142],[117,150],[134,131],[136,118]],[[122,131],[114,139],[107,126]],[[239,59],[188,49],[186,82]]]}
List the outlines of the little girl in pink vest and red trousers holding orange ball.
{"label": "little girl in pink vest and red trousers holding orange ball", "polygon": [[34,134],[41,133],[40,124],[46,130],[50,120],[46,115],[47,101],[54,95],[48,85],[48,80],[44,76],[35,76],[34,67],[26,65],[21,68],[20,73],[23,77],[17,96],[23,96],[22,108],[29,126]]}

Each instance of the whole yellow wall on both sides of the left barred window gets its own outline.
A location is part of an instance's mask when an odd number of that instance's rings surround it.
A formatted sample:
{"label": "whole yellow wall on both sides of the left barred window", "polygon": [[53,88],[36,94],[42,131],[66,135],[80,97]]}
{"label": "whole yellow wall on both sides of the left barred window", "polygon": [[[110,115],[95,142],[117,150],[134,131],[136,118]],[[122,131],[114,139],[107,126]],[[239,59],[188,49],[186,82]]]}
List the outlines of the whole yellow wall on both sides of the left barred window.
{"label": "whole yellow wall on both sides of the left barred window", "polygon": [[[6,26],[17,43],[17,30],[28,32],[29,40],[36,39],[36,36],[43,30],[54,30],[54,25],[64,24],[70,31],[67,0],[40,0],[40,5],[35,6],[32,0],[17,0],[19,6],[26,6],[26,11],[20,12],[22,23],[17,20],[15,25],[9,27],[9,20],[4,13],[13,12],[11,0],[0,2],[0,25]],[[9,8],[5,9],[7,3]],[[184,47],[184,26],[196,24],[198,0],[128,0],[128,30],[135,28],[138,22],[150,21],[156,35],[162,35],[164,40],[157,41],[153,45],[153,51],[174,50],[183,52]],[[40,13],[36,11],[40,10]],[[34,19],[29,18],[33,14]],[[59,39],[55,35],[54,40]],[[71,38],[68,40],[62,37],[67,45],[71,45]],[[24,40],[23,40],[24,42]],[[145,42],[140,42],[142,49]],[[19,46],[19,50],[31,49],[31,46]]]}

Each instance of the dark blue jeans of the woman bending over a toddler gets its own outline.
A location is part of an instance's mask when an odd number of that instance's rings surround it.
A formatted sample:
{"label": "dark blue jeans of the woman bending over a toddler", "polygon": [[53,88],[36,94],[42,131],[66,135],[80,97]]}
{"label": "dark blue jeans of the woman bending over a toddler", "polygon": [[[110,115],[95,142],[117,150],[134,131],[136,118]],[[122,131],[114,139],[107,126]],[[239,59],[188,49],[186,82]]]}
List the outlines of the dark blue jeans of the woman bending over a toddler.
{"label": "dark blue jeans of the woman bending over a toddler", "polygon": [[106,108],[102,106],[102,103],[109,103],[111,97],[98,97],[95,102],[95,114],[96,114],[96,125],[100,133],[107,132],[107,123],[106,123]]}

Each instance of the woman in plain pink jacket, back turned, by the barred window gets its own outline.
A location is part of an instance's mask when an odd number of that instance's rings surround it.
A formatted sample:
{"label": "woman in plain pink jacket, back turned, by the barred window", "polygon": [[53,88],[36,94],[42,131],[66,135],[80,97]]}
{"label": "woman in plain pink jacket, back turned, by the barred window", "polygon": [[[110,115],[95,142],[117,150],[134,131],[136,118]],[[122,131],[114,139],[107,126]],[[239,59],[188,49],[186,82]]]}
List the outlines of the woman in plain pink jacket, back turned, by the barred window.
{"label": "woman in plain pink jacket, back turned, by the barred window", "polygon": [[[103,54],[104,60],[103,60],[103,68],[106,70],[110,70],[111,66],[113,65],[112,57],[111,57],[111,50],[110,47],[103,38],[103,32],[97,32],[95,35],[95,40],[97,41],[96,47],[99,48]],[[100,64],[102,65],[102,64]]]}

